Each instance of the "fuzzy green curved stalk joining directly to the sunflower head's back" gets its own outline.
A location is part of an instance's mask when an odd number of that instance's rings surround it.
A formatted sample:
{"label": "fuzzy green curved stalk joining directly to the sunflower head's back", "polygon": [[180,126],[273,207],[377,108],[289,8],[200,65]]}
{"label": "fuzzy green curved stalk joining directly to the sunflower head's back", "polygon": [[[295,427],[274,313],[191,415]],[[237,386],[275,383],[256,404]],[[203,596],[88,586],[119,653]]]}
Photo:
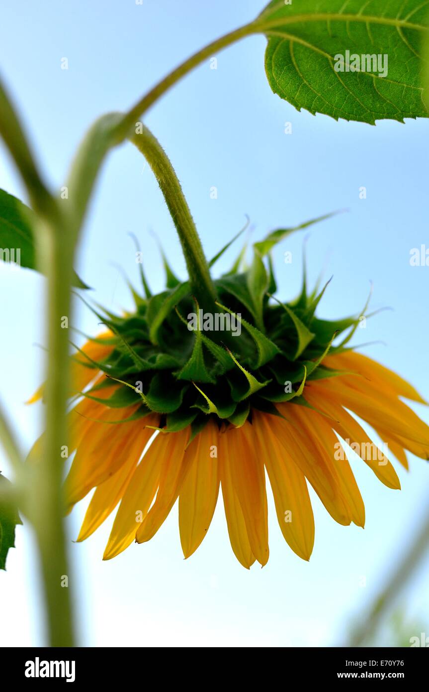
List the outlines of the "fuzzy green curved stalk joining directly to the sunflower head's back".
{"label": "fuzzy green curved stalk joining directly to the sunflower head's back", "polygon": [[131,141],[142,152],[158,180],[180,238],[193,293],[202,304],[213,302],[216,291],[211,281],[209,265],[178,176],[157,138],[143,123],[138,125],[138,131],[131,136]]}

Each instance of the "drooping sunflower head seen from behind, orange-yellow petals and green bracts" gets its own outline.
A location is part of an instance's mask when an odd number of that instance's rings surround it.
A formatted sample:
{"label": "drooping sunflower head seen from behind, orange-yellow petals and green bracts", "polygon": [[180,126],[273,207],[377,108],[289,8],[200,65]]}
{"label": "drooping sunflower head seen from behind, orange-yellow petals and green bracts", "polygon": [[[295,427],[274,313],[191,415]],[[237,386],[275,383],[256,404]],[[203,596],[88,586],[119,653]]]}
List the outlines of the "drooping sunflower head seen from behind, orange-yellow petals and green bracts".
{"label": "drooping sunflower head seen from behind, orange-yellow petals and green bracts", "polygon": [[[256,244],[245,271],[241,254],[213,282],[211,311],[200,309],[189,283],[168,264],[158,295],[141,268],[144,290],[132,289],[133,313],[92,308],[107,330],[73,359],[68,451],[75,455],[65,489],[69,511],[95,489],[79,541],[119,504],[104,559],[150,540],[176,500],[188,558],[207,534],[221,489],[236,558],[247,568],[265,565],[267,478],[285,540],[309,560],[314,517],[307,484],[336,522],[365,523],[347,448],[392,489],[400,484],[387,450],[406,468],[405,450],[429,458],[429,427],[402,399],[426,402],[348,346],[368,303],[358,316],[321,320],[315,313],[327,284],[307,293],[305,277],[296,300],[274,299],[269,253],[278,239],[271,234]],[[215,315],[222,331],[207,327]],[[43,388],[32,401],[42,394]],[[381,448],[354,415],[372,426]]]}

